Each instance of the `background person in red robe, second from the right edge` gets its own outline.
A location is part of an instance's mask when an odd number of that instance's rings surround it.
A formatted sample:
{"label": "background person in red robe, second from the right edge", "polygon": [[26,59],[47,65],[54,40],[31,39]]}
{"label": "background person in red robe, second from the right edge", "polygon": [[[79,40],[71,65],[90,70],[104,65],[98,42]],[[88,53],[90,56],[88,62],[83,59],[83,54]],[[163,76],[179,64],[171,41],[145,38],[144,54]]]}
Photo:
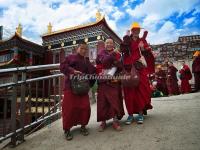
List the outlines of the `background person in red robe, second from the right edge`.
{"label": "background person in red robe, second from the right edge", "polygon": [[182,61],[182,68],[179,70],[180,79],[181,79],[181,93],[190,93],[191,85],[189,80],[192,79],[192,73],[188,65],[185,64],[185,61]]}

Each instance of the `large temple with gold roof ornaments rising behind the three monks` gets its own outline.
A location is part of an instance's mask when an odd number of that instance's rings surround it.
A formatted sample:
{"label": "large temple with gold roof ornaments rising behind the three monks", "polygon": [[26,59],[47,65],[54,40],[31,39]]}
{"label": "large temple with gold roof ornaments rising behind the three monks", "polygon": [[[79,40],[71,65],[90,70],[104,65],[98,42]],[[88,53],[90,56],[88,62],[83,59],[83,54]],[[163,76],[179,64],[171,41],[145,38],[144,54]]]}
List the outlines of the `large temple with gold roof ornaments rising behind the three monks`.
{"label": "large temple with gold roof ornaments rising behind the three monks", "polygon": [[77,44],[85,41],[89,46],[88,57],[91,61],[96,59],[98,51],[104,48],[106,38],[111,37],[115,41],[115,48],[119,48],[120,37],[108,26],[106,19],[99,11],[96,13],[96,21],[52,31],[49,23],[48,31],[42,35],[43,46],[48,52],[48,63],[60,63],[66,55],[75,52]]}

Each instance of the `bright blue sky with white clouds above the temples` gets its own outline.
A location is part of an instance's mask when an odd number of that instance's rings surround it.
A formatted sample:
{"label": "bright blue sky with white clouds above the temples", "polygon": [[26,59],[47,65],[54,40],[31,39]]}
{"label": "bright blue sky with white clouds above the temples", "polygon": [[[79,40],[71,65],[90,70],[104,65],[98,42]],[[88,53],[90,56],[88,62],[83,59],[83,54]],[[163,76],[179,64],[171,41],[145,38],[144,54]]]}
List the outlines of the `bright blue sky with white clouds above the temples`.
{"label": "bright blue sky with white clouds above the temples", "polygon": [[21,23],[23,36],[41,44],[49,22],[53,30],[80,25],[95,21],[97,10],[120,37],[134,21],[151,44],[200,34],[199,0],[0,0],[0,25],[14,33]]}

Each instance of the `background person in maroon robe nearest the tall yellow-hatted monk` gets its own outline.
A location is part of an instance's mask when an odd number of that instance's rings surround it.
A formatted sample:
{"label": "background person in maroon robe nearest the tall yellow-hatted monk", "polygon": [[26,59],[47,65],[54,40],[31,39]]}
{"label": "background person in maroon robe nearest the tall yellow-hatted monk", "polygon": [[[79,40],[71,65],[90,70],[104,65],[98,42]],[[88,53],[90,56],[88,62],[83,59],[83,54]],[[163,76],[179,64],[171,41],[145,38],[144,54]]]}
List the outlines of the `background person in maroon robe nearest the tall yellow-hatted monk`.
{"label": "background person in maroon robe nearest the tall yellow-hatted monk", "polygon": [[156,73],[156,81],[157,85],[156,88],[161,91],[165,96],[168,95],[168,89],[167,89],[167,75],[164,70],[162,70],[162,66],[158,66]]}

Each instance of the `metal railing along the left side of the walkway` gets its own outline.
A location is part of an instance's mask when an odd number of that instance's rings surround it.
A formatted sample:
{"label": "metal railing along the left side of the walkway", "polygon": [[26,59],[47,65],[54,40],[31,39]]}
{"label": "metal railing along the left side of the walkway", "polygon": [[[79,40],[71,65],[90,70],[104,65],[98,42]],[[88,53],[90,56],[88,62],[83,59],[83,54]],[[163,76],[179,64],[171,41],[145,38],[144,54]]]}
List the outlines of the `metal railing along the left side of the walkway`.
{"label": "metal railing along the left side of the walkway", "polygon": [[59,64],[50,64],[0,69],[1,76],[12,76],[12,82],[0,84],[0,143],[10,139],[15,146],[26,135],[60,118],[63,74],[50,74],[58,68]]}

